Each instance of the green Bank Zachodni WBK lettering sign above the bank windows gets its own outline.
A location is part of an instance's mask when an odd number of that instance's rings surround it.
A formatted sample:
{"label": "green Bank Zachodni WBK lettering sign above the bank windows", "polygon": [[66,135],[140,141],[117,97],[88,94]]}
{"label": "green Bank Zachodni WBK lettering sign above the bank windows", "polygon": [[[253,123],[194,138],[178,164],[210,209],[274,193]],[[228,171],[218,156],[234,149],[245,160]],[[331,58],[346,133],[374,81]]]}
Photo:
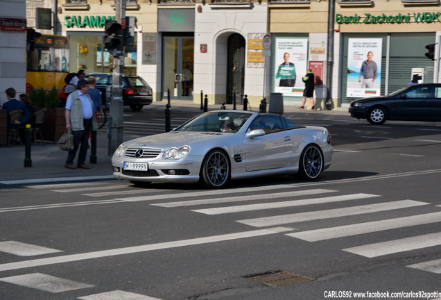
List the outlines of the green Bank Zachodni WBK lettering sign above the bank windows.
{"label": "green Bank Zachodni WBK lettering sign above the bank windows", "polygon": [[363,13],[363,15],[341,15],[336,14],[336,23],[337,24],[383,24],[383,23],[410,23],[411,19],[413,22],[441,22],[440,21],[441,12],[413,12],[406,14],[397,14],[397,15],[372,15],[368,12]]}

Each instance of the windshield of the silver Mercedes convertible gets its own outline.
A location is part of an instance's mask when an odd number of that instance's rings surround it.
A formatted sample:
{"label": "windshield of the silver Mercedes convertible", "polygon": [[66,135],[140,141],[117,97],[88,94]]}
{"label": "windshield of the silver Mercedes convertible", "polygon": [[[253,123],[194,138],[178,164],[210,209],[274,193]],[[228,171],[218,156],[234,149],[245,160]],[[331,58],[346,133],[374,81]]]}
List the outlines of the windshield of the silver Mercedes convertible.
{"label": "windshield of the silver Mercedes convertible", "polygon": [[204,113],[180,126],[176,131],[236,133],[245,124],[249,113]]}

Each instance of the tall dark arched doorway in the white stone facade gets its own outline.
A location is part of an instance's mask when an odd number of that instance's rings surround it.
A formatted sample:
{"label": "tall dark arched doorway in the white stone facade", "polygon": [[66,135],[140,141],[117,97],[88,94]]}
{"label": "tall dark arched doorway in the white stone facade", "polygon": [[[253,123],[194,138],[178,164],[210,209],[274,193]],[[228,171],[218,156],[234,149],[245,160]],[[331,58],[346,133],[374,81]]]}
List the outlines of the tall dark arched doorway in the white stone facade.
{"label": "tall dark arched doorway in the white stone facade", "polygon": [[245,81],[245,39],[233,33],[227,40],[227,103],[242,103]]}

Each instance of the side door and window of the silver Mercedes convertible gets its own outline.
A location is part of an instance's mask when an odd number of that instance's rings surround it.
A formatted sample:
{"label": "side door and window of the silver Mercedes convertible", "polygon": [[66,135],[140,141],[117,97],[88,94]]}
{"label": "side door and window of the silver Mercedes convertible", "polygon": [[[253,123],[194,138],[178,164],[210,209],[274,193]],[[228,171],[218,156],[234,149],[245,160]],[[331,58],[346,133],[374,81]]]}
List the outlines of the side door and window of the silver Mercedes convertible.
{"label": "side door and window of the silver Mercedes convertible", "polygon": [[291,160],[293,138],[284,130],[278,115],[261,115],[254,119],[249,131],[263,129],[265,135],[245,138],[245,160],[247,172],[278,169]]}

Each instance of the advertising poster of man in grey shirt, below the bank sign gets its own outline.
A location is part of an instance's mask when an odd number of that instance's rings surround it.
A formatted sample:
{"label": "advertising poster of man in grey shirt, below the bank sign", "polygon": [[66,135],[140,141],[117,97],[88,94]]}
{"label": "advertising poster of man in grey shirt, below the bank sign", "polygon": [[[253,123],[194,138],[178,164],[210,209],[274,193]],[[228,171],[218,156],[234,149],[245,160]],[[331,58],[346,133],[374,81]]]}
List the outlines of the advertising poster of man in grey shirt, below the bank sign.
{"label": "advertising poster of man in grey shirt, below the bank sign", "polygon": [[351,38],[347,44],[346,97],[379,96],[382,39]]}

